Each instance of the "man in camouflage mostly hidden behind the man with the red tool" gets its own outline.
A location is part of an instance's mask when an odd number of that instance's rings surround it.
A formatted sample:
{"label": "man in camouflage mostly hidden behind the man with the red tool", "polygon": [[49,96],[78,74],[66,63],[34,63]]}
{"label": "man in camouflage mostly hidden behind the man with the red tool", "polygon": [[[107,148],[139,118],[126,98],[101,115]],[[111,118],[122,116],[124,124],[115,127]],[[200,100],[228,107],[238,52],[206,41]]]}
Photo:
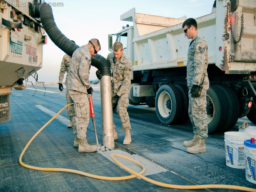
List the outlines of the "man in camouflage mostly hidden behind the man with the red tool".
{"label": "man in camouflage mostly hidden behind the man with the red tool", "polygon": [[[65,80],[65,85],[67,85],[67,81],[68,81],[68,72],[69,72],[69,66],[70,66],[70,61],[71,61],[71,57],[68,55],[68,54],[65,54],[62,58],[62,61],[61,61],[61,65],[60,65],[60,75],[59,75],[59,89],[60,91],[63,90],[63,85],[62,85],[62,81],[63,81],[63,78],[64,78],[64,74],[67,72],[67,76],[66,76],[66,80]],[[68,99],[68,89],[66,90],[66,100],[67,100],[67,103],[69,104],[69,99]],[[74,114],[72,113],[72,111],[74,111],[74,108],[73,105],[69,106],[68,107],[68,116],[69,116],[69,119],[70,119],[70,123],[68,124],[68,128],[71,128],[73,127],[73,116]]]}

